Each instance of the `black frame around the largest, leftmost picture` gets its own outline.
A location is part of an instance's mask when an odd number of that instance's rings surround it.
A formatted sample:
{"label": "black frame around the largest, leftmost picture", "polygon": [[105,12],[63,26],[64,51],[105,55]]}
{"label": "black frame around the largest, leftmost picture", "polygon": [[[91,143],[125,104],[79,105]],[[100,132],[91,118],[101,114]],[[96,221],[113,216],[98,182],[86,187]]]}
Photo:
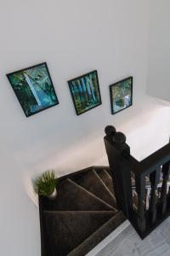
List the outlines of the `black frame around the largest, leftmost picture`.
{"label": "black frame around the largest, leftmost picture", "polygon": [[[48,81],[49,81],[48,85],[50,87],[51,95],[53,96],[54,102],[53,102],[53,104],[44,106],[44,108],[37,109],[37,111],[34,111],[32,113],[28,113],[28,112],[26,112],[26,108],[24,107],[24,104],[23,104],[23,102],[20,99],[19,93],[17,93],[16,88],[14,88],[14,83],[12,81],[12,76],[14,76],[16,74],[19,74],[19,73],[25,73],[26,71],[33,70],[33,69],[35,69],[37,67],[41,67],[41,66],[43,66],[45,68],[44,70],[46,71],[46,75],[48,76]],[[59,100],[58,100],[58,97],[57,97],[55,89],[54,89],[54,84],[53,84],[53,81],[51,79],[51,76],[50,76],[50,73],[49,73],[49,70],[48,70],[47,62],[42,62],[42,63],[39,63],[37,65],[31,66],[31,67],[26,67],[26,68],[20,69],[18,71],[14,71],[13,73],[8,73],[8,74],[6,74],[6,76],[8,78],[9,84],[11,84],[11,86],[12,86],[12,88],[14,90],[15,96],[17,97],[18,101],[20,102],[21,108],[23,109],[24,113],[26,114],[26,117],[30,117],[31,115],[34,115],[34,114],[39,113],[39,112],[42,112],[45,109],[52,108],[52,107],[54,107],[54,106],[59,104]],[[20,86],[22,86],[22,85],[20,85]]]}

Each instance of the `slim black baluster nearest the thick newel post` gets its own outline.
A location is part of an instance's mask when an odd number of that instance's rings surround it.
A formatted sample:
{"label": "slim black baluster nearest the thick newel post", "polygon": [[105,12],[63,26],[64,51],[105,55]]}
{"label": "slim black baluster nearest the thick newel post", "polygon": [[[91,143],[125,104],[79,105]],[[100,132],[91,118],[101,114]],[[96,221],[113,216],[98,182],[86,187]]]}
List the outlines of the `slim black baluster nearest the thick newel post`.
{"label": "slim black baluster nearest the thick newel post", "polygon": [[144,195],[145,195],[145,177],[136,177],[136,191],[138,193],[138,226],[143,233],[145,230],[144,216]]}

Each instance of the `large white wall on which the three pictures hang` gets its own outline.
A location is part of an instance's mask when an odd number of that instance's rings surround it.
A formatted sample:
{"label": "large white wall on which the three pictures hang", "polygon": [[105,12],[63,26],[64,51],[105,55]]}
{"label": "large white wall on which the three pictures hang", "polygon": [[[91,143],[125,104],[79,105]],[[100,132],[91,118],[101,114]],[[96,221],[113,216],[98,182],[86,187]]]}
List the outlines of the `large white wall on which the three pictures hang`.
{"label": "large white wall on which the three pictures hang", "polygon": [[[148,29],[148,0],[0,0],[1,255],[40,255],[31,178],[107,164],[105,125],[139,159],[167,143],[169,107],[146,96]],[[59,105],[26,119],[5,74],[42,61]],[[77,117],[66,82],[93,69],[103,104]],[[109,84],[129,75],[133,107],[113,116]]]}

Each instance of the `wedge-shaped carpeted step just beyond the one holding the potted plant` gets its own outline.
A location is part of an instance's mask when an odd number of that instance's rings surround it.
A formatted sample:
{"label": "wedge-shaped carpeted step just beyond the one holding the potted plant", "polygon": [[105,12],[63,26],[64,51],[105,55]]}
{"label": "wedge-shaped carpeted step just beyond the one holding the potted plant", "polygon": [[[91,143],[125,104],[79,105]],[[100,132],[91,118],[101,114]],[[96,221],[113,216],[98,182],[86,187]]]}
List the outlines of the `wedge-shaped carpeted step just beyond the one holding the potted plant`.
{"label": "wedge-shaped carpeted step just beyond the one holding the potted plant", "polygon": [[82,174],[74,182],[111,205],[111,207],[116,207],[114,196],[94,170]]}

